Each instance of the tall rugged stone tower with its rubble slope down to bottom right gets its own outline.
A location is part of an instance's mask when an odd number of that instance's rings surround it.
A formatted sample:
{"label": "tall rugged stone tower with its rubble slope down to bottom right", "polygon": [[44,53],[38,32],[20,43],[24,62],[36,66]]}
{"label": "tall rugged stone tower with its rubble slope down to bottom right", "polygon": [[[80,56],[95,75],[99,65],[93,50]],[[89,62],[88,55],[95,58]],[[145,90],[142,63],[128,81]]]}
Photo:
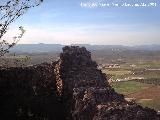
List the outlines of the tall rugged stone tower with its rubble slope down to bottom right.
{"label": "tall rugged stone tower with its rubble slope down to bottom right", "polygon": [[117,94],[85,48],[64,47],[59,63],[61,97],[67,111],[66,119],[159,119],[154,110],[127,102],[123,95]]}

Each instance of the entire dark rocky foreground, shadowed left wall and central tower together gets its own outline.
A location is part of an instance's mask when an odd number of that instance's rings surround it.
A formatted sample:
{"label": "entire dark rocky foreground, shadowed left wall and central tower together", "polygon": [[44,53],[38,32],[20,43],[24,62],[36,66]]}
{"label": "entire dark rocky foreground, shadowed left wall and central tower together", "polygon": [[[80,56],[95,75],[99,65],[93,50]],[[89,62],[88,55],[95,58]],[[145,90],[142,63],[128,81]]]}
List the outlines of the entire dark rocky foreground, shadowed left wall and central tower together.
{"label": "entire dark rocky foreground, shadowed left wall and central tower together", "polygon": [[125,101],[84,47],[64,47],[51,64],[0,69],[0,120],[160,120]]}

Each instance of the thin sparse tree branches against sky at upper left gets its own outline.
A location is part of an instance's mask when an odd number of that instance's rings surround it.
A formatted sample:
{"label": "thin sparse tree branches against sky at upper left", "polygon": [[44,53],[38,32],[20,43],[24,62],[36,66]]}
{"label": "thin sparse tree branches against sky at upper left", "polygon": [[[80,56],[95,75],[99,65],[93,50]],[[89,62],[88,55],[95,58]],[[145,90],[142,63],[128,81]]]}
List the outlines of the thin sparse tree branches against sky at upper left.
{"label": "thin sparse tree branches against sky at upper left", "polygon": [[[5,1],[5,0],[4,0]],[[28,9],[39,6],[43,0],[8,0],[8,2],[0,2],[0,57],[9,52],[9,49],[14,47],[17,42],[24,35],[24,28],[19,27],[20,34],[13,37],[13,41],[10,43],[3,37],[7,33],[9,26],[17,18],[22,16],[28,11]]]}

